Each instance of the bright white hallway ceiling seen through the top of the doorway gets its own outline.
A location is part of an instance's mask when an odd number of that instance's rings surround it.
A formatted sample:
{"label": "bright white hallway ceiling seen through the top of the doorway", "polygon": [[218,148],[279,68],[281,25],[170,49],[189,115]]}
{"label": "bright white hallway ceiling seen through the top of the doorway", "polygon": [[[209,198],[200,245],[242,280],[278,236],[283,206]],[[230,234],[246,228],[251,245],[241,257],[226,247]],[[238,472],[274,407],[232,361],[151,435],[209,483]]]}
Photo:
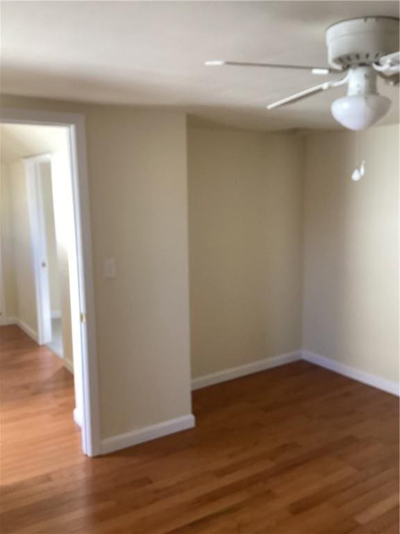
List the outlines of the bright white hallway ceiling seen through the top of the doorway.
{"label": "bright white hallway ceiling seen through the top of the doorway", "polygon": [[67,129],[58,126],[0,124],[1,163],[56,152],[67,143]]}

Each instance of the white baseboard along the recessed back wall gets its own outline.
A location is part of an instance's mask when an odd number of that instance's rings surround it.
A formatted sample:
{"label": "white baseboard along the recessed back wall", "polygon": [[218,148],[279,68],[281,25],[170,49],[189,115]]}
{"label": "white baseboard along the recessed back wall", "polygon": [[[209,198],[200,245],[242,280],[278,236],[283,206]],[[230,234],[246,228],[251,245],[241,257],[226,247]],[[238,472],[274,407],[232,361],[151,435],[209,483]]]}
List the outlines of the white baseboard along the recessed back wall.
{"label": "white baseboard along the recessed back wall", "polygon": [[251,362],[251,364],[224,369],[224,371],[218,371],[217,373],[194,378],[192,380],[192,390],[219,384],[219,382],[227,382],[228,380],[252,375],[253,373],[259,373],[260,371],[266,371],[273,367],[297,362],[299,359],[301,359],[301,350],[297,350],[293,353],[280,354],[271,358],[260,359],[258,362]]}

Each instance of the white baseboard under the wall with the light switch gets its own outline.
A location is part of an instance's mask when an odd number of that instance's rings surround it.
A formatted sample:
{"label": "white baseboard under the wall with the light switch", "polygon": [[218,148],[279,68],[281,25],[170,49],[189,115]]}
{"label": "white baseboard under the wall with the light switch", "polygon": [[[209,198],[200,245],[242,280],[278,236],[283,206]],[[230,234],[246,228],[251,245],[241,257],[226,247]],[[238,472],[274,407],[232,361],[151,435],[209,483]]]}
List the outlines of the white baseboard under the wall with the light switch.
{"label": "white baseboard under the wall with the light switch", "polygon": [[194,416],[189,414],[176,419],[169,419],[169,421],[163,421],[163,423],[156,425],[145,426],[139,430],[133,430],[133,432],[107,437],[101,441],[100,453],[108,454],[113,451],[119,451],[122,448],[149,442],[151,439],[174,434],[174,432],[181,432],[181,430],[188,430],[188,428],[193,428],[194,425]]}

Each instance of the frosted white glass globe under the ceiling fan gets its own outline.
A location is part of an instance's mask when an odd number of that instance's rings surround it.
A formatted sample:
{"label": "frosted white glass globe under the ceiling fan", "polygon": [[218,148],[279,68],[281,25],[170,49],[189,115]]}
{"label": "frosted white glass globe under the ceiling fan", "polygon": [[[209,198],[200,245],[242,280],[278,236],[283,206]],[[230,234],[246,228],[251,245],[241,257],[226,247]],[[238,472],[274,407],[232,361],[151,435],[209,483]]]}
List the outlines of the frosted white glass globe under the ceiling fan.
{"label": "frosted white glass globe under the ceiling fan", "polygon": [[331,111],[333,117],[345,128],[363,130],[386,115],[390,104],[389,98],[377,93],[352,95],[335,100]]}

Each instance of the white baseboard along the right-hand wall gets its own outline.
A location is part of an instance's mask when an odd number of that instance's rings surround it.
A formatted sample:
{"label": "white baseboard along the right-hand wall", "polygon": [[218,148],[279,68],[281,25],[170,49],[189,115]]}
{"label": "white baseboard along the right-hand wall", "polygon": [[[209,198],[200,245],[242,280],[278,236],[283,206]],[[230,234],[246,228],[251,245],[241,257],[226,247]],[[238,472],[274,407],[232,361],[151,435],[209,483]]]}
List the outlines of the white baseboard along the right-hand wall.
{"label": "white baseboard along the right-hand wall", "polygon": [[311,364],[319,365],[320,367],[324,367],[325,369],[329,369],[340,375],[353,378],[353,380],[358,380],[358,382],[363,382],[363,384],[383,389],[383,391],[387,391],[387,393],[399,396],[399,384],[392,380],[385,380],[385,378],[365,373],[365,371],[360,371],[360,369],[356,369],[355,367],[350,367],[340,362],[336,362],[333,359],[312,353],[310,350],[302,350],[301,357]]}

